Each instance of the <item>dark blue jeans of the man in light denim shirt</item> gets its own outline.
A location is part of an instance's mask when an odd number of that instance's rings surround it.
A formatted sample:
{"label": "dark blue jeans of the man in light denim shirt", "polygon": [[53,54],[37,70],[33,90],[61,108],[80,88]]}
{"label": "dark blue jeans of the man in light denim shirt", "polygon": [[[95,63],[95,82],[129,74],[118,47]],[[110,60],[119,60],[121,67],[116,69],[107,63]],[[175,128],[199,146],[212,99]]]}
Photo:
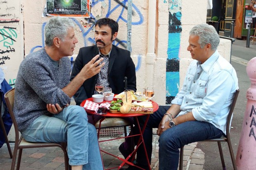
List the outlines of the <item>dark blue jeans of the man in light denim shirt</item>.
{"label": "dark blue jeans of the man in light denim shirt", "polygon": [[[158,128],[168,108],[169,106],[159,106],[159,110],[149,116],[149,121],[143,133],[149,162],[151,162],[152,155],[152,128]],[[139,117],[141,128],[145,119],[145,116]],[[180,147],[192,142],[219,138],[222,135],[223,132],[213,124],[202,121],[187,121],[169,128],[159,137],[159,170],[177,170]],[[145,152],[142,147],[139,147],[137,151],[137,163],[147,165]]]}

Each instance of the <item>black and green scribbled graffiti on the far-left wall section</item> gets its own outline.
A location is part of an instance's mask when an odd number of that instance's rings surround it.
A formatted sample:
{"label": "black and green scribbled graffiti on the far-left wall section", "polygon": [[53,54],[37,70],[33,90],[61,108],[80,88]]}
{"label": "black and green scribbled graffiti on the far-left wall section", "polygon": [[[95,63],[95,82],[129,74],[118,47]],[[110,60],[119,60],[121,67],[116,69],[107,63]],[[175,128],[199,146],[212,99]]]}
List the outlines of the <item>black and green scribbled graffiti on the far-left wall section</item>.
{"label": "black and green scribbled graffiti on the far-left wall section", "polygon": [[[9,74],[13,74],[12,70],[8,71],[8,66],[14,67],[15,58],[19,47],[19,18],[20,4],[14,3],[13,0],[0,0],[0,67],[5,72],[5,78],[8,79]],[[13,60],[14,62],[11,62]],[[6,74],[8,73],[8,74]],[[10,76],[10,77],[13,77]],[[9,79],[9,84],[14,87],[16,78]]]}

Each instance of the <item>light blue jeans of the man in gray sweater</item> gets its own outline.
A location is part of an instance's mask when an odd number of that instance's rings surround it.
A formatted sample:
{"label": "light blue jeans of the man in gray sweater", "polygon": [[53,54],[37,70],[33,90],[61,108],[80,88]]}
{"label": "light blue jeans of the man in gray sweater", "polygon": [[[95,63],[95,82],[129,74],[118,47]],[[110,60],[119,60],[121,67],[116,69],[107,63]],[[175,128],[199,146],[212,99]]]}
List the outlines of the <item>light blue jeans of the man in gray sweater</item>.
{"label": "light blue jeans of the man in gray sweater", "polygon": [[21,133],[29,142],[67,142],[69,165],[103,170],[97,132],[83,107],[71,105],[59,114],[40,116]]}

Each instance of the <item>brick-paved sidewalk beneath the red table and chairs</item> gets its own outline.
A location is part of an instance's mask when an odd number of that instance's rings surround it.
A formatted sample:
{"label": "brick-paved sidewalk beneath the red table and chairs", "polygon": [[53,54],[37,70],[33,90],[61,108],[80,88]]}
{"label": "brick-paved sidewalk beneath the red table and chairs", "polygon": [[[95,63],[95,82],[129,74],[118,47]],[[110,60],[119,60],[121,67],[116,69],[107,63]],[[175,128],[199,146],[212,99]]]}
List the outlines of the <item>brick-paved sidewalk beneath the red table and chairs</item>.
{"label": "brick-paved sidewalk beneath the red table and chairs", "polygon": [[[107,140],[110,137],[100,137],[100,140]],[[101,142],[100,147],[102,150],[110,152],[111,154],[118,155],[123,158],[119,152],[119,145],[123,139]],[[158,136],[153,136],[153,152],[151,167],[152,170],[158,170]],[[184,161],[183,170],[203,170],[204,153],[196,148],[197,143],[192,143],[184,147]],[[13,151],[14,143],[11,143]],[[118,167],[121,161],[113,156],[102,153],[105,169]],[[9,152],[6,144],[0,149],[0,170],[9,170],[11,168],[12,159],[9,157]],[[64,156],[63,152],[58,147],[51,148],[33,148],[23,149],[21,157],[20,170],[64,170]],[[114,168],[113,170],[117,170]]]}

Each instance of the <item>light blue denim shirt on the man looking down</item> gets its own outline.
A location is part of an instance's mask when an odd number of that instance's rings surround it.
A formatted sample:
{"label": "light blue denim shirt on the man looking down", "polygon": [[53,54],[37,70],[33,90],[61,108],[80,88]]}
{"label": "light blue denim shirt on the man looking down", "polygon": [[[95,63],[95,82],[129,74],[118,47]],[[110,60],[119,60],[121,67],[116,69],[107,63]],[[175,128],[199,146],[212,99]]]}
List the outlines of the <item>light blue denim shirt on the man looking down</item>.
{"label": "light blue denim shirt on the man looking down", "polygon": [[182,89],[172,100],[180,105],[178,116],[192,112],[197,121],[206,121],[226,134],[226,121],[238,79],[235,69],[218,51],[203,64],[192,61]]}

